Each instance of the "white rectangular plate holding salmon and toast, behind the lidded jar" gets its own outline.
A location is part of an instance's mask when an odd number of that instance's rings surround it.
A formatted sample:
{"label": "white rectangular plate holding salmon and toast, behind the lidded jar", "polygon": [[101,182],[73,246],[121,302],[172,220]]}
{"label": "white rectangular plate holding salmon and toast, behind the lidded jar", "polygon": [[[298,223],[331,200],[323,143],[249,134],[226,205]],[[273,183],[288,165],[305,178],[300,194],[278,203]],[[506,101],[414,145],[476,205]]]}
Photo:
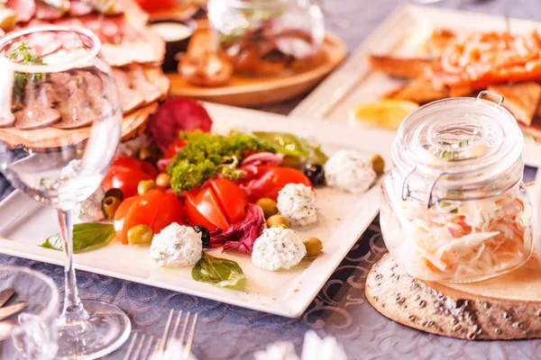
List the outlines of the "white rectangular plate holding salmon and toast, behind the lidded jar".
{"label": "white rectangular plate holding salmon and toast, behind the lidded jar", "polygon": [[[510,19],[513,32],[541,29],[540,23]],[[299,103],[290,116],[333,120],[341,124],[360,127],[348,121],[348,112],[357,103],[381,98],[382,94],[401,82],[382,73],[371,71],[368,55],[394,54],[415,56],[435,28],[445,28],[464,33],[472,31],[505,31],[506,22],[501,16],[474,14],[438,7],[404,5],[399,7],[372,32],[352,56],[316,90]],[[391,130],[377,130],[389,137]],[[392,138],[391,138],[392,139]],[[390,147],[390,143],[387,144]],[[532,140],[525,144],[524,160],[527,165],[541,166],[541,146]]]}

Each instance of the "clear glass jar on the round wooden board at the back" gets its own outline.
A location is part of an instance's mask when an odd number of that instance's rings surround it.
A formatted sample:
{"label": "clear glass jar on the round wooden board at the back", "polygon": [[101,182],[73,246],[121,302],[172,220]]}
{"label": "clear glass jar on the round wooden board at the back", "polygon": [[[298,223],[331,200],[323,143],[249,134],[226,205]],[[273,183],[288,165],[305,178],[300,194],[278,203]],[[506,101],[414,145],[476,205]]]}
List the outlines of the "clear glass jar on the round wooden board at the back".
{"label": "clear glass jar on the round wooden board at the back", "polygon": [[313,0],[209,0],[219,53],[249,76],[289,76],[312,66],[325,40]]}

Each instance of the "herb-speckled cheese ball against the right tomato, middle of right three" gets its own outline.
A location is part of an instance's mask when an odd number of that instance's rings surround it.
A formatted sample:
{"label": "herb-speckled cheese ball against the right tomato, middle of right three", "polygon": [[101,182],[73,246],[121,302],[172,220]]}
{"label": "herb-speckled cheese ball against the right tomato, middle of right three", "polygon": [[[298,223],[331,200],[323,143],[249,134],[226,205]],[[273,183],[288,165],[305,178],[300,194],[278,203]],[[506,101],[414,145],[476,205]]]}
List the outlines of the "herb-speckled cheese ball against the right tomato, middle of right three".
{"label": "herb-speckled cheese ball against the right tomato, middle of right three", "polygon": [[287,184],[278,193],[278,211],[294,225],[317,221],[316,193],[305,184]]}

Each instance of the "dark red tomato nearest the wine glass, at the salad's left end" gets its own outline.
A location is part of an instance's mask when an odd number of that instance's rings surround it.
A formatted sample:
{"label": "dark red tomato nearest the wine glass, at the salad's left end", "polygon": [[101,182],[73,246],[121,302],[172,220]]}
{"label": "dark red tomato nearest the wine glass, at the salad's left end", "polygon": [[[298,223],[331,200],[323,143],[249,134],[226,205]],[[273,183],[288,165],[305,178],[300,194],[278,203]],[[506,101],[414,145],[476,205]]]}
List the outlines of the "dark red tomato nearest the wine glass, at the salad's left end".
{"label": "dark red tomato nearest the wine glass, at the salad's left end", "polygon": [[149,162],[133,157],[117,157],[102,184],[105,191],[115,187],[124,193],[124,198],[127,198],[137,193],[139,182],[153,180],[157,175],[157,170]]}

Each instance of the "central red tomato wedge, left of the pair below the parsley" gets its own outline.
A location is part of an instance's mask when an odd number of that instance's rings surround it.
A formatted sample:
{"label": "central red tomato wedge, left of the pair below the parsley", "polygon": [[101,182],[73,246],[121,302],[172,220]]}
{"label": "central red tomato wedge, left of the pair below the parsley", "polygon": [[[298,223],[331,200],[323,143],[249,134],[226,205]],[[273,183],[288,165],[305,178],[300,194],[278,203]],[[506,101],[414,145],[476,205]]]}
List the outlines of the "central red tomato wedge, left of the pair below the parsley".
{"label": "central red tomato wedge, left of the pair below the parsley", "polygon": [[195,197],[193,193],[187,193],[186,217],[192,225],[205,225],[208,228],[207,224],[210,223],[212,229],[220,228],[225,231],[229,228],[225,211],[210,187],[197,193]]}

